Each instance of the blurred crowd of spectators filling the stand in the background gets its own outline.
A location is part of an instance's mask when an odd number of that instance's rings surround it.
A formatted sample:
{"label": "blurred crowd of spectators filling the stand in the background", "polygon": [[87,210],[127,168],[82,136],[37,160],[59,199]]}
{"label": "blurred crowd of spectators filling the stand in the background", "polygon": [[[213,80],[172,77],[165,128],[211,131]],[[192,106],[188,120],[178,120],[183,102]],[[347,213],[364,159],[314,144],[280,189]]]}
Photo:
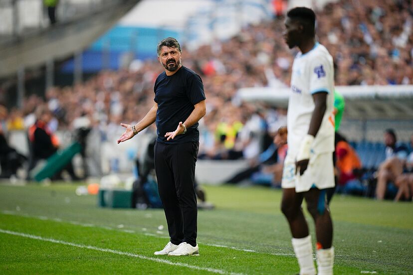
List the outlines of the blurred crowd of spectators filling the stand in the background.
{"label": "blurred crowd of spectators filling the stand in the background", "polygon": [[[317,36],[332,54],[336,85],[413,84],[413,2],[340,0],[317,13]],[[249,25],[226,40],[195,51],[183,47],[183,64],[199,73],[207,96],[200,122],[200,158],[256,160],[286,125],[286,110],[239,102],[243,87],[287,87],[295,50],[285,45],[283,16]],[[155,51],[156,49],[154,49]],[[136,123],[153,105],[153,86],[163,70],[157,60],[133,61],[128,70],[102,71],[74,86],[31,95],[23,108],[0,107],[0,131],[27,130],[35,109],[53,114],[51,132],[72,131],[87,121],[102,140],[115,141],[120,122]]]}

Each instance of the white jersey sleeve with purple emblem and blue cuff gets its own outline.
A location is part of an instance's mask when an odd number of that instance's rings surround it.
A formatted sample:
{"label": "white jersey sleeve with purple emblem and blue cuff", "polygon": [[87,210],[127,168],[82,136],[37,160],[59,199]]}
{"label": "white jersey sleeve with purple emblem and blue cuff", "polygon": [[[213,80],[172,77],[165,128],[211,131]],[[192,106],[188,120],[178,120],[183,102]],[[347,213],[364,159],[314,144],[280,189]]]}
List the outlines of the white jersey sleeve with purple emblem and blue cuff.
{"label": "white jersey sleeve with purple emblem and blue cuff", "polygon": [[315,56],[310,62],[310,94],[320,92],[330,93],[330,78],[334,78],[334,71],[326,56]]}

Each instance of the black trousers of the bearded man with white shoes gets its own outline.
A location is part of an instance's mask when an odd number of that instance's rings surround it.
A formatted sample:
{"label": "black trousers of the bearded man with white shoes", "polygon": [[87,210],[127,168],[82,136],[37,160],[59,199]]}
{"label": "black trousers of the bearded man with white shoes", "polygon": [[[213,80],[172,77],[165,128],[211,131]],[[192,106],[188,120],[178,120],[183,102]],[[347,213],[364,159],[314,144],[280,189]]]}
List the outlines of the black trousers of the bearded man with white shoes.
{"label": "black trousers of the bearded man with white shoes", "polygon": [[155,171],[171,243],[197,244],[197,196],[194,188],[199,142],[155,143]]}

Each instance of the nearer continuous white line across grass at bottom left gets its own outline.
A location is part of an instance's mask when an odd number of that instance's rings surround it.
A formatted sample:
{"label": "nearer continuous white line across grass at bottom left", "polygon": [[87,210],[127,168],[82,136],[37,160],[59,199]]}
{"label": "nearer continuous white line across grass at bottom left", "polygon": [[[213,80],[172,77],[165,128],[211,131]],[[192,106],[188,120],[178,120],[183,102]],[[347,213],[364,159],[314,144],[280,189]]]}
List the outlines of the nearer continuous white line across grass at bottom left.
{"label": "nearer continuous white line across grass at bottom left", "polygon": [[240,273],[229,273],[229,272],[226,272],[226,271],[223,271],[223,270],[218,270],[218,269],[203,268],[203,267],[192,266],[192,265],[183,264],[183,263],[174,263],[174,262],[170,262],[170,261],[159,259],[159,258],[151,258],[151,257],[139,255],[139,254],[133,254],[133,253],[129,253],[129,252],[117,251],[117,250],[107,249],[107,248],[99,248],[99,247],[94,247],[94,246],[79,245],[79,244],[69,243],[69,242],[55,240],[55,239],[43,238],[43,237],[40,237],[40,236],[31,235],[31,234],[20,233],[20,232],[14,232],[14,231],[8,231],[8,230],[0,229],[0,233],[19,236],[19,237],[24,237],[24,238],[29,238],[29,239],[34,239],[34,240],[39,240],[39,241],[45,241],[45,242],[50,242],[50,243],[55,243],[55,244],[67,245],[67,246],[72,246],[72,247],[77,247],[77,248],[86,248],[86,249],[91,249],[91,250],[96,250],[96,251],[101,251],[101,252],[108,252],[108,253],[113,253],[113,254],[118,254],[118,255],[124,255],[124,256],[139,258],[141,260],[149,260],[149,261],[153,261],[153,262],[158,262],[158,263],[167,264],[167,265],[171,265],[171,266],[184,267],[184,268],[189,268],[189,269],[194,269],[194,270],[203,270],[203,271],[207,271],[207,272],[211,272],[211,273],[242,275]]}

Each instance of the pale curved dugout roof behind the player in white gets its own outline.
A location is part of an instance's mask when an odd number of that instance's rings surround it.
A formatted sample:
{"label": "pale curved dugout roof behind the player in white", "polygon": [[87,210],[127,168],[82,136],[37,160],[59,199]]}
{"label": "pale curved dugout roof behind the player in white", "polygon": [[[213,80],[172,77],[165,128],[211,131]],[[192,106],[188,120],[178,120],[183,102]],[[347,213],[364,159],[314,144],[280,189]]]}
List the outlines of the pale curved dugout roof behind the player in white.
{"label": "pale curved dugout roof behind the player in white", "polygon": [[[413,120],[413,85],[336,86],[345,101],[345,118],[355,120]],[[237,98],[287,107],[289,88],[242,88]]]}

